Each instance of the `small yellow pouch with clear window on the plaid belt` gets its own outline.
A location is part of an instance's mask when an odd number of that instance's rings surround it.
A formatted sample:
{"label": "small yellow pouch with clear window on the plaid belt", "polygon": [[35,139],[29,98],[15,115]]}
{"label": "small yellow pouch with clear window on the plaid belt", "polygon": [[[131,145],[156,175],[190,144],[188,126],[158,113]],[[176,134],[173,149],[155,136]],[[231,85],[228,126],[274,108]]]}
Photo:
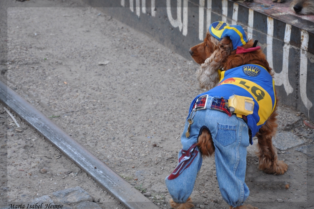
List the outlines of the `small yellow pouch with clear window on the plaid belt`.
{"label": "small yellow pouch with clear window on the plaid belt", "polygon": [[236,113],[236,116],[241,118],[242,115],[253,114],[254,101],[250,97],[232,95],[228,99],[228,106],[230,112]]}

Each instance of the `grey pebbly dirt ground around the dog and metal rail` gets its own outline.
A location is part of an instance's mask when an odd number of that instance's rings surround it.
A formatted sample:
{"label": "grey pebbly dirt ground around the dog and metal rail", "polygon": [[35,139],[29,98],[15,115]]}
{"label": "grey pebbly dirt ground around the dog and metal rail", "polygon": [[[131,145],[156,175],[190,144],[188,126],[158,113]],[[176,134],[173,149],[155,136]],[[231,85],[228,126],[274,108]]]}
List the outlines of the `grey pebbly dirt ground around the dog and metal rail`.
{"label": "grey pebbly dirt ground around the dog and metal rail", "polygon": [[[176,167],[189,105],[202,92],[198,65],[79,1],[9,4],[8,71],[1,80],[138,190],[151,192],[151,201],[170,208],[164,179]],[[278,110],[280,133],[293,132],[303,146],[313,143],[313,129],[302,122],[306,116],[284,106]],[[53,199],[53,191],[80,186],[100,198],[100,207],[123,208],[16,118],[19,129],[0,106],[1,152],[7,149],[8,158],[3,205],[42,195]],[[248,148],[246,202],[269,209],[305,205],[306,154],[295,147],[278,151],[289,169],[268,175],[258,170],[256,140]],[[68,176],[71,172],[78,174]],[[203,160],[191,197],[205,208],[229,208],[219,192],[214,158]]]}

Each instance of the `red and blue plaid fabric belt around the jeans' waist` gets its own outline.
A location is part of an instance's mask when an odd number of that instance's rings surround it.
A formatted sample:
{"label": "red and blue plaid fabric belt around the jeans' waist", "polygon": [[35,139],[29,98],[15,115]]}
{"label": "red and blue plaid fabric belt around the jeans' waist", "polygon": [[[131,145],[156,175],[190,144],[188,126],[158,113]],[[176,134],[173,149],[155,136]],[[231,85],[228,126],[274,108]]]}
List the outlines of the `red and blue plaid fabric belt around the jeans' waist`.
{"label": "red and blue plaid fabric belt around the jeans' waist", "polygon": [[[200,96],[197,100],[197,102],[194,104],[193,109],[205,109],[206,103],[207,103],[207,95]],[[210,109],[212,110],[218,110],[221,112],[226,113],[229,117],[232,116],[229,107],[228,107],[228,100],[223,98],[213,98],[212,104],[210,105]],[[245,115],[242,115],[243,121],[247,124],[247,117]]]}

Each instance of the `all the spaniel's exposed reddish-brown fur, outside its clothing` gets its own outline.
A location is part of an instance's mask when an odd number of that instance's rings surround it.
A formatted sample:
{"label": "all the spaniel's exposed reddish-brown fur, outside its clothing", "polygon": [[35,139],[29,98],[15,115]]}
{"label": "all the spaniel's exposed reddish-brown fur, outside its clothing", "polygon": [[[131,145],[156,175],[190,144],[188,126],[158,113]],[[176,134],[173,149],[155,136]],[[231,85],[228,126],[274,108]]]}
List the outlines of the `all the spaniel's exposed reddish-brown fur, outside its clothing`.
{"label": "all the spaniel's exposed reddish-brown fur, outside its clothing", "polygon": [[[252,48],[253,41],[249,40],[243,48]],[[196,72],[201,89],[214,88],[219,82],[218,69],[227,71],[246,64],[257,64],[263,66],[270,75],[274,72],[269,67],[265,54],[262,50],[257,50],[244,54],[236,54],[233,50],[233,45],[229,37],[223,38],[221,41],[214,38],[207,32],[204,42],[190,49],[192,58],[199,64],[200,69]],[[276,100],[278,101],[277,97]],[[277,106],[278,102],[276,103]],[[266,123],[259,129],[256,134],[258,138],[257,156],[259,157],[259,169],[268,174],[284,174],[288,170],[288,165],[283,161],[278,161],[277,150],[272,144],[272,138],[277,131],[276,123],[276,106],[273,113],[268,118]],[[251,133],[248,133],[250,136]],[[203,157],[213,155],[215,148],[210,131],[204,128],[198,136],[198,149]],[[189,199],[192,201],[191,199]],[[171,200],[172,201],[172,200]],[[191,208],[191,202],[180,204],[180,208]],[[173,201],[172,201],[173,202]],[[171,204],[175,209],[178,209],[178,204]],[[232,208],[232,207],[230,207]],[[251,205],[236,207],[236,209],[257,209]]]}

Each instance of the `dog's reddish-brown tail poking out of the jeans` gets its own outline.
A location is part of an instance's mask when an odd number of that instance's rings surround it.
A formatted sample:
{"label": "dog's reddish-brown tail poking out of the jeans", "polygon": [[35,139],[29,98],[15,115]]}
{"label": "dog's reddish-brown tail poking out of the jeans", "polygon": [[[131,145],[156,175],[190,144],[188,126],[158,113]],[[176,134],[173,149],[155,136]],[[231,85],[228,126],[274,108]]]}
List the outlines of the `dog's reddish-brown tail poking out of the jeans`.
{"label": "dog's reddish-brown tail poking out of the jeans", "polygon": [[197,146],[203,157],[212,156],[215,152],[212,135],[206,126],[199,131]]}

